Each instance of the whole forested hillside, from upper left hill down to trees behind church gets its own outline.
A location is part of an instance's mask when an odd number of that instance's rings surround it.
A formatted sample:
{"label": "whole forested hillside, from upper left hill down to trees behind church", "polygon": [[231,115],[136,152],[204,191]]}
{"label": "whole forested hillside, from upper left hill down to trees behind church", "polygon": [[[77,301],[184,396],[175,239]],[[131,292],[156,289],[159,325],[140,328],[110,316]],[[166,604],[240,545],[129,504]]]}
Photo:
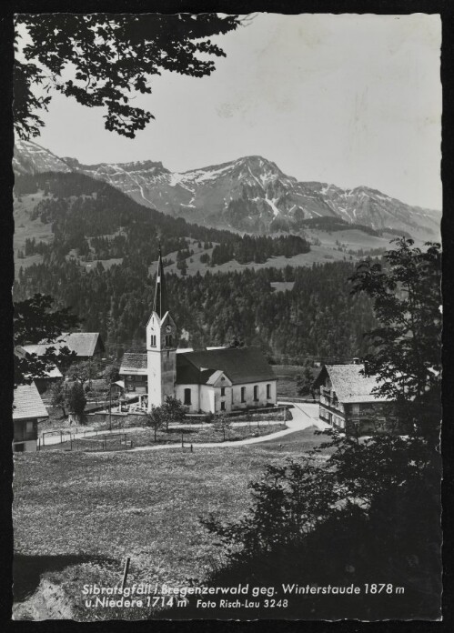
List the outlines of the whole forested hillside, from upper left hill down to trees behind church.
{"label": "whole forested hillside, from upper left hill down to trees behind church", "polygon": [[[17,177],[15,195],[32,194],[25,219],[50,227],[51,234],[46,243],[25,240],[26,255],[39,254],[40,261],[21,268],[18,259],[15,298],[41,292],[60,306],[72,306],[84,329],[100,331],[117,354],[144,342],[154,289],[149,268],[159,242],[163,256],[177,251],[177,264],[191,256],[194,240],[212,249],[211,265],[230,258],[263,262],[310,248],[300,236],[240,236],[190,225],[81,174]],[[185,347],[236,340],[259,345],[269,356],[292,358],[365,351],[363,332],[372,327],[373,316],[367,299],[349,295],[353,262],[227,274],[207,269],[205,276],[182,272],[167,274],[167,286]],[[295,284],[275,292],[271,282],[278,281]]]}

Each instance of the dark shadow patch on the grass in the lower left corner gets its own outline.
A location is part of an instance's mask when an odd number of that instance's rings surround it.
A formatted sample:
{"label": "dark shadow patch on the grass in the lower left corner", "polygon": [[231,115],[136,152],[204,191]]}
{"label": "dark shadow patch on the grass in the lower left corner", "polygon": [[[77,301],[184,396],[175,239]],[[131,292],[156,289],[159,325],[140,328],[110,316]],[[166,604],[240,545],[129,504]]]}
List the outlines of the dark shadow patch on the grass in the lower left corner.
{"label": "dark shadow patch on the grass in the lower left corner", "polygon": [[49,571],[62,571],[67,567],[89,562],[110,562],[108,558],[88,554],[57,556],[25,556],[15,554],[13,559],[13,582],[15,602],[24,602],[35,593],[41,576]]}

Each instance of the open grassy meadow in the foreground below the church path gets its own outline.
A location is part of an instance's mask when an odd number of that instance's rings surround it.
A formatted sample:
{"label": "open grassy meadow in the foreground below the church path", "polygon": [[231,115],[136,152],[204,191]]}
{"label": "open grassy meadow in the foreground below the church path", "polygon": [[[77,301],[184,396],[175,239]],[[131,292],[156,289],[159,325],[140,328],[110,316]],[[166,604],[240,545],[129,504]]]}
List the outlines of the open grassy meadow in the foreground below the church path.
{"label": "open grassy meadow in the foreground below the church path", "polygon": [[83,585],[118,584],[127,556],[130,583],[202,580],[223,557],[199,517],[240,517],[250,505],[247,483],[266,464],[323,438],[311,427],[279,440],[194,453],[15,455],[15,618],[148,617],[144,609],[89,610]]}

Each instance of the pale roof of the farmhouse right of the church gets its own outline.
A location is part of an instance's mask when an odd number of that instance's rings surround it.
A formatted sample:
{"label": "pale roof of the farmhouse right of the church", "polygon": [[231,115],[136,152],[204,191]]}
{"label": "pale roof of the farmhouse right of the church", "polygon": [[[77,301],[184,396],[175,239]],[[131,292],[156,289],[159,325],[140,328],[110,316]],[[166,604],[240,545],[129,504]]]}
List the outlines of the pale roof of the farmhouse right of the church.
{"label": "pale roof of the farmhouse right of the church", "polygon": [[[376,376],[364,376],[361,373],[364,370],[364,365],[325,365],[324,368],[328,372],[339,402],[360,403],[388,400],[387,397],[372,393],[372,390],[378,387],[379,382]],[[323,369],[320,376],[322,372]]]}

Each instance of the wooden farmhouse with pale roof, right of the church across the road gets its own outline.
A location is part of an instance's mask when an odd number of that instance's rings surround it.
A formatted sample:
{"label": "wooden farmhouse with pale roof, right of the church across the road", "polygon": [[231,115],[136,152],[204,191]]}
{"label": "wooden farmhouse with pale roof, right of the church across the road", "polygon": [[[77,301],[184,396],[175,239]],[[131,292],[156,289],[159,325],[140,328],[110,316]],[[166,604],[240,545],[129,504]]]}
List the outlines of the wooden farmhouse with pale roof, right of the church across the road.
{"label": "wooden farmhouse with pale roof, right of the church across the road", "polygon": [[373,392],[375,376],[364,376],[364,365],[325,365],[314,382],[320,392],[319,417],[348,435],[397,430],[387,413],[388,398]]}

